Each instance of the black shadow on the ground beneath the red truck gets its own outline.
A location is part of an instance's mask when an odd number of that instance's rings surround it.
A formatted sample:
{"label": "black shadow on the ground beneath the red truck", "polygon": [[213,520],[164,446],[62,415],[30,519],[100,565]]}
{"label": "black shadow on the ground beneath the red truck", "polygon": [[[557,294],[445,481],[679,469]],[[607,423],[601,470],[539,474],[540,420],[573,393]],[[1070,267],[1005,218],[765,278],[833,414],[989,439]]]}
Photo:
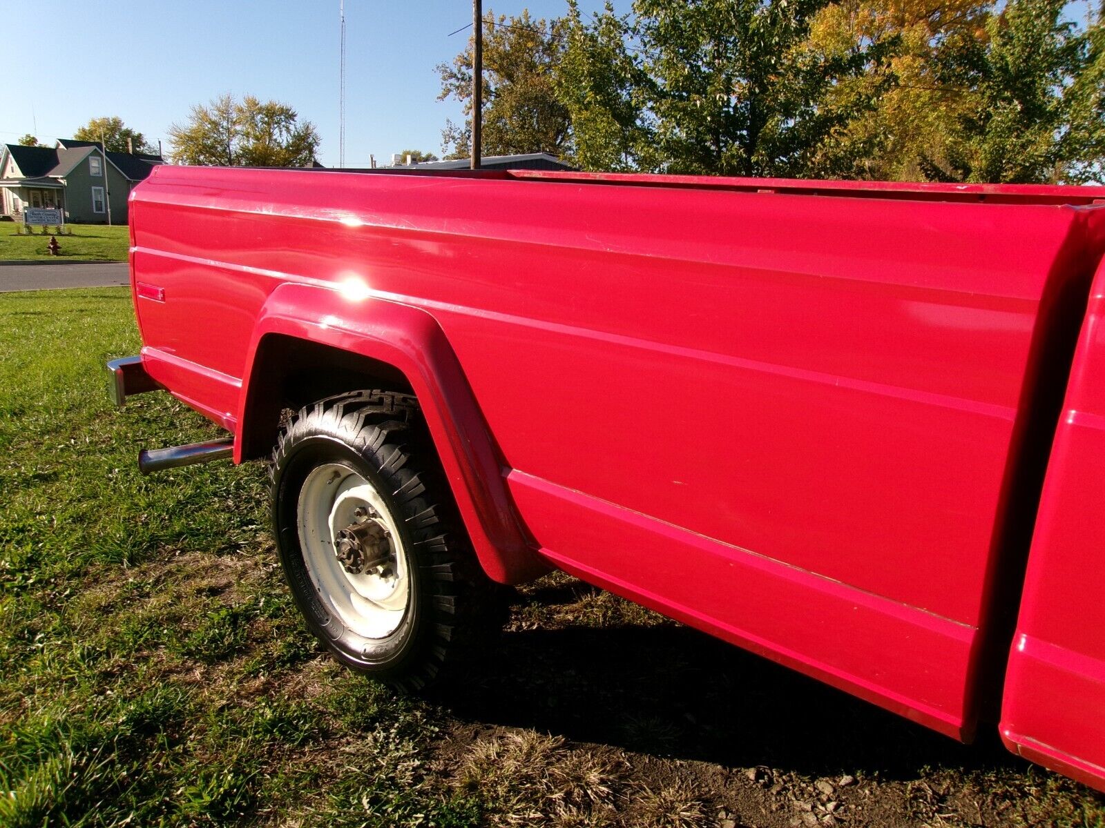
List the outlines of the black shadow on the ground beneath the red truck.
{"label": "black shadow on the ground beneath the red truck", "polygon": [[915,779],[925,767],[1027,766],[996,728],[961,745],[676,625],[506,633],[434,696],[472,722],[729,767]]}

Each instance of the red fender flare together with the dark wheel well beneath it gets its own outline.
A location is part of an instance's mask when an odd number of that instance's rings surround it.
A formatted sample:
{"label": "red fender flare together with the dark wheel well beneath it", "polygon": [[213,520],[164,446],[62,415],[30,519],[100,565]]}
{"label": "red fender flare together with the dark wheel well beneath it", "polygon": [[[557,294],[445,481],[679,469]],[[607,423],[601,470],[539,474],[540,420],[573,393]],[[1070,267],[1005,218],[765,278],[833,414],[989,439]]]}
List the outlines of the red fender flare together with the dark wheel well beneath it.
{"label": "red fender flare together with the dark wheel well beneath it", "polygon": [[[352,383],[352,385],[350,385]],[[360,384],[358,384],[360,383]],[[257,319],[239,397],[234,461],[263,457],[281,412],[366,388],[414,394],[480,563],[501,583],[549,566],[527,542],[503,464],[444,331],[424,310],[339,290],[280,286]]]}

